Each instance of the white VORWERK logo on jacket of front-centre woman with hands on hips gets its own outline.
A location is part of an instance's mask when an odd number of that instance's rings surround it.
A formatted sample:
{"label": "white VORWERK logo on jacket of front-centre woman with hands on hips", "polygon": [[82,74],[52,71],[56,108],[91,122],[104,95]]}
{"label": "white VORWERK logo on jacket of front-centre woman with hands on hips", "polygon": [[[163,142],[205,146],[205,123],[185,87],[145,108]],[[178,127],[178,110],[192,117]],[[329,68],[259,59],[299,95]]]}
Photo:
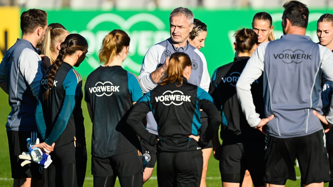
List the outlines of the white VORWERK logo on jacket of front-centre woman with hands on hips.
{"label": "white VORWERK logo on jacket of front-centre woman with hands on hips", "polygon": [[[173,94],[177,93],[177,94]],[[170,104],[181,105],[183,102],[191,102],[190,95],[184,95],[179,90],[175,91],[165,91],[162,95],[155,97],[156,102],[163,102],[164,105],[168,106]]]}

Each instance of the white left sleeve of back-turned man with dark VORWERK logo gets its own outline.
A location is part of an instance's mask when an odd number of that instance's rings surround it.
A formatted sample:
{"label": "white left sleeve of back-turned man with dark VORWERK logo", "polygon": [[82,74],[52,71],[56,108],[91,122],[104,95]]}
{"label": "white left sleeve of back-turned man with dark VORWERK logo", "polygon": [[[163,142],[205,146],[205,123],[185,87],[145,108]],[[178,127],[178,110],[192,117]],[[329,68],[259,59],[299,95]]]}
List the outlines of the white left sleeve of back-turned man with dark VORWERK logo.
{"label": "white left sleeve of back-turned man with dark VORWERK logo", "polygon": [[265,42],[261,44],[251,58],[247,61],[246,66],[239,76],[236,84],[237,96],[239,104],[242,107],[242,111],[246,117],[247,123],[251,127],[256,127],[260,123],[259,114],[255,112],[255,106],[253,104],[251,85],[257,80],[264,71],[264,57],[267,44]]}

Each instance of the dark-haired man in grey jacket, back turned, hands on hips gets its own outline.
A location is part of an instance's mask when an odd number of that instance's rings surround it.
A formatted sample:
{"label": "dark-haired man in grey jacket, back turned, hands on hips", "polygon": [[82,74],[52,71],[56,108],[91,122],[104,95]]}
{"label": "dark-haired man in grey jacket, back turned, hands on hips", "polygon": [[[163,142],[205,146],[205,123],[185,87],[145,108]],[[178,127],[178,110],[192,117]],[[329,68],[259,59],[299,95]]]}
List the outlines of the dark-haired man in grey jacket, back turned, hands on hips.
{"label": "dark-haired man in grey jacket, back turned, hands on hips", "polygon": [[[321,122],[333,123],[333,113],[322,116],[321,77],[333,84],[333,53],[305,36],[309,10],[298,1],[283,5],[284,35],[258,47],[247,62],[236,89],[250,126],[267,123],[266,172],[269,186],[284,186],[296,180],[297,158],[301,184],[323,186],[329,181],[325,134]],[[250,92],[263,74],[265,115],[260,119]],[[330,106],[333,111],[333,105]],[[326,128],[326,126],[325,126]]]}

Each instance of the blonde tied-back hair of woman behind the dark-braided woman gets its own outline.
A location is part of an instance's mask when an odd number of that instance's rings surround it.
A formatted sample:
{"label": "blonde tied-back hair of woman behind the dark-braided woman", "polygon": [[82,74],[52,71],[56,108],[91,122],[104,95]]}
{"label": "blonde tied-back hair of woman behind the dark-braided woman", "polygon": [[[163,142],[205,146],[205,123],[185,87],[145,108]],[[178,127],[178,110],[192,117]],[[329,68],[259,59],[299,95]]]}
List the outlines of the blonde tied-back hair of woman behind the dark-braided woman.
{"label": "blonde tied-back hair of woman behind the dark-braided woman", "polygon": [[58,56],[58,51],[56,49],[57,43],[62,43],[65,41],[66,36],[69,32],[65,29],[52,28],[46,29],[45,37],[42,42],[42,54],[48,56],[51,60],[51,64],[56,61],[55,57]]}

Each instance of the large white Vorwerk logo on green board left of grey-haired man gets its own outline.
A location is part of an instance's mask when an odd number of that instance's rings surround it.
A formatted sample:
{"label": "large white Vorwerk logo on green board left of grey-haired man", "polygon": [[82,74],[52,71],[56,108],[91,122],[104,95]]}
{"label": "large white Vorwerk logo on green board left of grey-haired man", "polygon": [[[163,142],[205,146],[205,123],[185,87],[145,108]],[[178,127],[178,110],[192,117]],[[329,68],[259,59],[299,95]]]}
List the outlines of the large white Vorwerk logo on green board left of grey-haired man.
{"label": "large white Vorwerk logo on green board left of grey-haired man", "polygon": [[[167,17],[166,17],[167,19]],[[150,31],[147,28],[142,28],[142,30],[132,30],[129,31],[133,25],[139,23],[149,23],[153,25],[157,30]],[[97,58],[91,57],[87,59],[87,63],[93,68],[96,69],[100,66],[98,60],[98,51],[101,47],[101,41],[103,38],[110,32],[109,27],[105,27],[105,30],[98,29],[100,24],[105,25],[106,23],[113,23],[119,26],[120,29],[124,30],[131,37],[130,44],[130,55],[123,62],[123,67],[127,67],[132,72],[139,73],[141,69],[141,62],[149,47],[159,43],[166,38],[170,37],[170,34],[165,31],[166,24],[157,16],[150,13],[139,13],[129,17],[127,20],[121,17],[120,15],[113,13],[104,13],[92,18],[87,24],[87,30],[80,31],[78,34],[84,36],[89,43],[89,51],[92,51],[93,54],[97,54]],[[100,28],[101,26],[99,26]],[[112,30],[112,29],[111,29]],[[77,33],[73,31],[73,33]],[[91,49],[91,50],[90,50]],[[140,58],[138,60],[132,60],[133,56],[137,55]],[[136,62],[137,61],[137,62]],[[139,63],[140,62],[140,63]]]}

